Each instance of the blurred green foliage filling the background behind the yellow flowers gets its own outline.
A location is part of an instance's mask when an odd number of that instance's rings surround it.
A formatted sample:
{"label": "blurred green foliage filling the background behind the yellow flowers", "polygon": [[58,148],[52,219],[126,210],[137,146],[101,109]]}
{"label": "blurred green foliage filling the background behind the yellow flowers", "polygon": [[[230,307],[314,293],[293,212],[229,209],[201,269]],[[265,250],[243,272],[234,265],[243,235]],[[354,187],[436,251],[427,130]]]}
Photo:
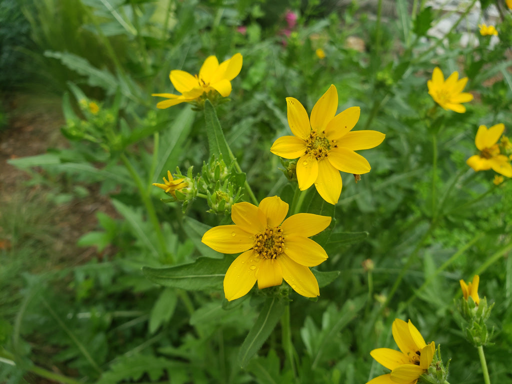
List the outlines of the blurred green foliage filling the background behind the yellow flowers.
{"label": "blurred green foliage filling the background behind the yellow flowers", "polygon": [[[491,44],[475,26],[429,36],[446,12],[423,1],[383,2],[380,13],[369,3],[0,3],[3,96],[61,97],[67,139],[10,161],[31,178],[0,206],[0,382],[361,383],[383,373],[369,352],[395,348],[391,324],[400,317],[452,358],[450,381],[480,383],[477,352],[452,316],[458,280],[475,273],[480,294],[497,303],[497,336],[486,349],[491,381],[512,378],[512,183],[495,186],[493,172],[465,163],[480,124],[503,122],[510,135],[511,14],[503,2],[482,2],[496,3],[502,15]],[[465,15],[470,3],[450,12]],[[462,45],[464,33],[479,45]],[[217,114],[259,200],[293,196],[269,151],[289,134],[286,97],[311,111],[335,84],[338,112],[361,108],[356,130],[387,135],[364,153],[371,173],[357,184],[343,175],[331,236],[359,235],[323,244],[329,259],[317,268],[338,278],[317,301],[292,294],[291,352],[278,325],[243,369],[237,356],[264,292],[228,303],[220,286],[163,288],[141,272],[222,258],[200,239],[210,226],[230,223],[229,215],[207,213],[201,199],[183,212],[151,186],[176,166],[201,173],[210,161],[204,119],[188,105],[156,110],[151,94],[174,92],[170,70],[194,74],[207,56],[222,61],[237,52],[242,72]],[[475,100],[466,113],[430,114],[426,81],[436,66],[445,77],[469,77]],[[96,196],[93,189],[102,198],[96,229],[81,233],[78,246],[94,248],[77,260],[66,253],[74,244],[56,246],[52,212]],[[310,190],[309,211],[318,199]]]}

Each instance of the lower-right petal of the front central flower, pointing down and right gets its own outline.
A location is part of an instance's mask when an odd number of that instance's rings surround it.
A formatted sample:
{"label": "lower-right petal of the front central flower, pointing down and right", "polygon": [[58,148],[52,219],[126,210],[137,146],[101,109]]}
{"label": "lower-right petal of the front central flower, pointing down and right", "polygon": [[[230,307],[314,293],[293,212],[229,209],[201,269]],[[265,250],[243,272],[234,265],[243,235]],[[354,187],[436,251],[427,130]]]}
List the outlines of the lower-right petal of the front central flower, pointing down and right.
{"label": "lower-right petal of the front central flower, pointing down and right", "polygon": [[295,263],[285,253],[276,259],[281,265],[283,279],[300,295],[316,297],[320,294],[318,282],[308,267]]}

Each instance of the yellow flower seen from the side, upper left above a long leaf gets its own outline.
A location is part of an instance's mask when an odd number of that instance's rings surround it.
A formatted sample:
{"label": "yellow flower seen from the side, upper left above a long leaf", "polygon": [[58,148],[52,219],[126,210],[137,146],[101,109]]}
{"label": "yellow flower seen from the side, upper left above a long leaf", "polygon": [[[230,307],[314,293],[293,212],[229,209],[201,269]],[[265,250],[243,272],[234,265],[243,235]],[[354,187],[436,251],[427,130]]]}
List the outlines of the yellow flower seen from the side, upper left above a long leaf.
{"label": "yellow flower seen from the side, upper left above a long leaf", "polygon": [[242,69],[242,55],[234,54],[231,58],[219,65],[215,56],[209,56],[204,61],[199,75],[191,75],[188,72],[170,71],[170,81],[181,95],[172,93],[154,93],[152,96],[166,97],[168,100],[160,101],[157,108],[165,109],[182,102],[199,100],[201,96],[210,91],[217,91],[222,97],[231,93],[231,80],[237,77]]}

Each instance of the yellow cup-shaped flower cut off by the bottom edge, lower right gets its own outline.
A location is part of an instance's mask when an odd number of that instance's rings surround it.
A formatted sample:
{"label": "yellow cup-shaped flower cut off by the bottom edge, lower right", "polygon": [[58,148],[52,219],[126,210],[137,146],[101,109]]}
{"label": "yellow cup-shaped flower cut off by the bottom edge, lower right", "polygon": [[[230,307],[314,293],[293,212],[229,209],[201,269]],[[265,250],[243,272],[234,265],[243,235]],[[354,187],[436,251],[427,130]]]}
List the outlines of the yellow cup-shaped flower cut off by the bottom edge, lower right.
{"label": "yellow cup-shaped flower cut off by the bottom edge, lower right", "polygon": [[410,320],[406,323],[395,319],[392,332],[401,352],[390,348],[377,348],[370,352],[391,373],[375,377],[367,384],[415,384],[432,363],[436,349],[434,342],[426,344]]}

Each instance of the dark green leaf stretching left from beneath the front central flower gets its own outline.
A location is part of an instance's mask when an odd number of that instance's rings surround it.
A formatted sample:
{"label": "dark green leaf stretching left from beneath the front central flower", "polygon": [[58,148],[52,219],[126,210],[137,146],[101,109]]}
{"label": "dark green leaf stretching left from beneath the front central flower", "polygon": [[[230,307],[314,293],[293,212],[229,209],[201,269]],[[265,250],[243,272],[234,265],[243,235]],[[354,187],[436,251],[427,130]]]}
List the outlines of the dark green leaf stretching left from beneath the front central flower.
{"label": "dark green leaf stretching left from beneath the front central flower", "polygon": [[143,267],[147,279],[165,287],[192,291],[202,289],[222,289],[222,282],[233,259],[199,258],[195,263],[168,268]]}

